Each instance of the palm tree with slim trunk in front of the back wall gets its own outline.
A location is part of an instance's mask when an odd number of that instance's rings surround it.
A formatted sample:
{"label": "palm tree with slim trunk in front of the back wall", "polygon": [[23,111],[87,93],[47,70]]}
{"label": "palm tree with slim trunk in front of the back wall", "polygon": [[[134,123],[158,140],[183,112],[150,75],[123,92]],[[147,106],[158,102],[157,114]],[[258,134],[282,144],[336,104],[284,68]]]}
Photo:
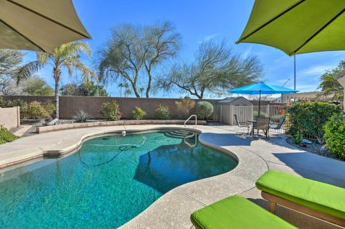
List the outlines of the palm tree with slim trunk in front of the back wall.
{"label": "palm tree with slim trunk in front of the back wall", "polygon": [[52,77],[55,79],[55,109],[56,116],[59,118],[59,84],[61,81],[62,69],[68,70],[68,75],[72,76],[74,70],[81,72],[84,78],[95,77],[99,81],[95,72],[88,69],[81,61],[80,54],[84,53],[90,57],[91,50],[88,43],[73,42],[63,44],[52,52],[37,52],[37,59],[42,66],[52,66]]}

